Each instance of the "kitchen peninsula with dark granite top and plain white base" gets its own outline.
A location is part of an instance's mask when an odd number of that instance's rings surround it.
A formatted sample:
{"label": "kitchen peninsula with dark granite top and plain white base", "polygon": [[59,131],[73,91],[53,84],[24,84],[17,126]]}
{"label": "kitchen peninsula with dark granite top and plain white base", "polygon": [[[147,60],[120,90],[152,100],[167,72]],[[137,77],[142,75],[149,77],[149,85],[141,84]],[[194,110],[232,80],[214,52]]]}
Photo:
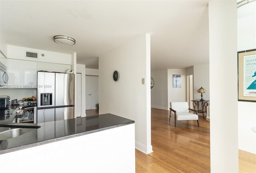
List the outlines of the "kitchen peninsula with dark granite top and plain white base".
{"label": "kitchen peninsula with dark granite top and plain white base", "polygon": [[[0,127],[9,125],[20,124]],[[108,113],[22,125],[30,131],[0,140],[3,172],[135,172],[130,119]],[[21,169],[24,165],[29,169]]]}

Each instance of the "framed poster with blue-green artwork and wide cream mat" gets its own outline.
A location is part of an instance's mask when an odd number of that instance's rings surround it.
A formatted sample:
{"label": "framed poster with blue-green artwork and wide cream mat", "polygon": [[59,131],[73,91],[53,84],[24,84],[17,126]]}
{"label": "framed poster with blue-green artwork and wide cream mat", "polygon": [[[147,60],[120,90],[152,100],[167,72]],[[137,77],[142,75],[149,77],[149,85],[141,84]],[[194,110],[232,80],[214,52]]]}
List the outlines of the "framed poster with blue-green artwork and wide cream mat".
{"label": "framed poster with blue-green artwork and wide cream mat", "polygon": [[256,49],[238,52],[238,101],[256,102]]}

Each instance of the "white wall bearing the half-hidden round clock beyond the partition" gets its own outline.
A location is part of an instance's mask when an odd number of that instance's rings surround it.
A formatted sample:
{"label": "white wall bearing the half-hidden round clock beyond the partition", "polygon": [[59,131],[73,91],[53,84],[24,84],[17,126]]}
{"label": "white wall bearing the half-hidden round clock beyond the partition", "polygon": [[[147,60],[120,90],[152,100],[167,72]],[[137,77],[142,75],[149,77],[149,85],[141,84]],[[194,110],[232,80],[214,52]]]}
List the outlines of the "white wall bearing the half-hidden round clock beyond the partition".
{"label": "white wall bearing the half-hidden round clock beyond the partition", "polygon": [[151,107],[168,109],[168,76],[167,70],[151,72],[154,87],[151,89]]}

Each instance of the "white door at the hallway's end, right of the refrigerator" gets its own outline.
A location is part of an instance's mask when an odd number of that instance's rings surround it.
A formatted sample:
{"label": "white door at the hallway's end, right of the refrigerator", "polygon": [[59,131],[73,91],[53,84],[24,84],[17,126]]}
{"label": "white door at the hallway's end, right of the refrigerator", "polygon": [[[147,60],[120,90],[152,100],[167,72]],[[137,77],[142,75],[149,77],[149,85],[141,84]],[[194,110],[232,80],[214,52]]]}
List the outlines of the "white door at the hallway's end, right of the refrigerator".
{"label": "white door at the hallway's end, right of the refrigerator", "polygon": [[99,77],[86,76],[85,78],[85,93],[86,93],[86,110],[97,109],[99,103]]}

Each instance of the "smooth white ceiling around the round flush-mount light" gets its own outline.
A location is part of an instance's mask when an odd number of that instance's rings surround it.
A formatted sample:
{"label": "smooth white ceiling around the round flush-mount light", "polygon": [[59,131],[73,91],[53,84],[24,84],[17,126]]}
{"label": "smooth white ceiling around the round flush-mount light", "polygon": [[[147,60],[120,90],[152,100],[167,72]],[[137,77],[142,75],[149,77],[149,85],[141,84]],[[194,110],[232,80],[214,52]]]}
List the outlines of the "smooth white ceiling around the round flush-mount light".
{"label": "smooth white ceiling around the round flush-mount light", "polygon": [[[10,45],[72,54],[98,68],[98,57],[151,35],[151,71],[209,62],[208,1],[4,1],[1,34]],[[76,39],[74,46],[54,35]]]}

